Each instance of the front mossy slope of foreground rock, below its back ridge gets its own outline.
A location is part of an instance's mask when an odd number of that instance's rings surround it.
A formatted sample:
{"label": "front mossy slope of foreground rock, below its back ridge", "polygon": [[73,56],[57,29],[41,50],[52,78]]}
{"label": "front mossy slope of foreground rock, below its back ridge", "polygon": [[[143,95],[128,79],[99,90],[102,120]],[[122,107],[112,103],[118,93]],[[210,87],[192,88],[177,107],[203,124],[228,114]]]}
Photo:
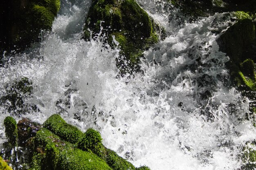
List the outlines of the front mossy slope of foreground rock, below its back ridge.
{"label": "front mossy slope of foreground rock, below its back ridge", "polygon": [[45,128],[36,134],[33,155],[31,169],[36,170],[111,170],[93,153],[74,148]]}

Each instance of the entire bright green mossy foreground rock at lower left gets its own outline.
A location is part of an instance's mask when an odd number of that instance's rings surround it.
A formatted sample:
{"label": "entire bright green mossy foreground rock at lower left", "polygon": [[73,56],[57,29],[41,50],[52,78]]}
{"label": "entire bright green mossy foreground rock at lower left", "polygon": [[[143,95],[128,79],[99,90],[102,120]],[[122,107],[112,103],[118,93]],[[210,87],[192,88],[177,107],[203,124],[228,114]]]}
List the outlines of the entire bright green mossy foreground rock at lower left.
{"label": "entire bright green mossy foreground rock at lower left", "polygon": [[[27,153],[26,159],[16,154],[18,163],[14,155],[11,163],[17,167],[21,165],[29,170],[150,170],[146,166],[135,168],[116,152],[103,146],[99,132],[89,128],[83,133],[67,124],[60,115],[52,115],[43,126],[29,119],[20,120],[17,126],[13,120],[7,117],[4,121],[10,122],[4,123],[9,143],[5,146],[22,146],[24,150],[21,153]],[[11,138],[13,133],[17,134],[17,129],[18,138],[17,135],[15,139]],[[6,152],[11,152],[9,147]],[[11,157],[10,153],[5,155]]]}

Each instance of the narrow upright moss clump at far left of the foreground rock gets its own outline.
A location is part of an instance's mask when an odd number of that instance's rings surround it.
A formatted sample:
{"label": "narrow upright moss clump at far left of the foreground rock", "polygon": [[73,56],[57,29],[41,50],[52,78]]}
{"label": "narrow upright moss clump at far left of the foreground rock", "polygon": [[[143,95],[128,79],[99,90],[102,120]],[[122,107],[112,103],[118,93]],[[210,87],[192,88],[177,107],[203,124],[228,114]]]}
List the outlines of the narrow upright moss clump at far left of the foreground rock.
{"label": "narrow upright moss clump at far left of the foreground rock", "polygon": [[5,136],[7,137],[9,144],[11,144],[12,147],[17,146],[18,129],[16,120],[10,116],[6,117],[4,119],[4,127]]}

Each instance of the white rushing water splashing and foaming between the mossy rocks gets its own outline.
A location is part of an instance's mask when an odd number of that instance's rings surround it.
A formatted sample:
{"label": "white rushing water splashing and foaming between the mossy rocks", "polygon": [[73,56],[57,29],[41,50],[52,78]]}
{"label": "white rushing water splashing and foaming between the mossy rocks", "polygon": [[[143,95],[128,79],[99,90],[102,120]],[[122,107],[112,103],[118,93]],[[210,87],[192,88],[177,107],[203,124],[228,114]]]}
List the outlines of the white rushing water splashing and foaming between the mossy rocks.
{"label": "white rushing water splashing and foaming between the mossy rocks", "polygon": [[[81,130],[101,132],[103,144],[135,166],[151,170],[236,170],[246,141],[256,138],[249,99],[229,85],[219,51],[218,32],[230,24],[229,13],[216,13],[193,23],[178,9],[159,0],[139,0],[168,33],[141,59],[141,73],[116,78],[115,58],[100,40],[81,40],[90,2],[63,0],[52,32],[21,54],[5,56],[0,68],[0,95],[21,77],[33,82],[40,111],[23,117],[43,123],[60,113]],[[2,118],[10,115],[1,105]],[[15,116],[14,116],[15,117]],[[15,117],[17,120],[20,117]],[[5,140],[3,119],[0,143]],[[2,147],[2,146],[1,146]]]}

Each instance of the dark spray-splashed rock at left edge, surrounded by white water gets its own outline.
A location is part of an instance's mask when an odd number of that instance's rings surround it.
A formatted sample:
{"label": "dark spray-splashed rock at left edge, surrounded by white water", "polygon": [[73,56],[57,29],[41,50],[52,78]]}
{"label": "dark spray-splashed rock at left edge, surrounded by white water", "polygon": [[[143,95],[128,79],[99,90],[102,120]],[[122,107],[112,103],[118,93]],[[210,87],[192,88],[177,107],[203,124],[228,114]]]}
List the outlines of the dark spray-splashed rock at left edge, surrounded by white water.
{"label": "dark spray-splashed rock at left edge, surrounded by white water", "polygon": [[30,79],[22,77],[11,85],[5,86],[6,95],[0,101],[7,111],[14,115],[26,114],[30,111],[38,110],[34,104],[27,104],[25,101],[32,97],[33,86]]}

